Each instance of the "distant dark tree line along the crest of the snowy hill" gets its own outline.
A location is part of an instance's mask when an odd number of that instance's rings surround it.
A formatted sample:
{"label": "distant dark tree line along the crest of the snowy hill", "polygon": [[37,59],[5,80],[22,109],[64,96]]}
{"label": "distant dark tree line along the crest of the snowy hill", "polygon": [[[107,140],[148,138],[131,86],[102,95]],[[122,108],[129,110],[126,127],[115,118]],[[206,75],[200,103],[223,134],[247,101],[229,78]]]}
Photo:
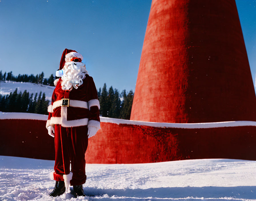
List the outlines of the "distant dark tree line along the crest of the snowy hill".
{"label": "distant dark tree line along the crest of the snowy hill", "polygon": [[43,72],[41,74],[37,74],[36,76],[34,76],[33,74],[19,74],[18,76],[14,76],[12,73],[13,72],[11,71],[7,74],[6,72],[3,74],[2,71],[0,71],[0,81],[31,82],[36,84],[54,86],[53,81],[55,77],[53,77],[53,74],[51,74],[49,78],[44,78]]}

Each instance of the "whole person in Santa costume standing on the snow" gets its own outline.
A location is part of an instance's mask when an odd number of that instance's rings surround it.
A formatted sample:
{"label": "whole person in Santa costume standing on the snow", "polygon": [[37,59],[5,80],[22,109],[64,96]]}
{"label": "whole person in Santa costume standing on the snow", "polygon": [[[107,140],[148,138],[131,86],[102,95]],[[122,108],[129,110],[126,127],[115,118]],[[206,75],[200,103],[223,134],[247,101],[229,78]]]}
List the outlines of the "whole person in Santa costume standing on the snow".
{"label": "whole person in Santa costume standing on the snow", "polygon": [[48,107],[46,128],[55,137],[55,165],[50,177],[56,183],[49,194],[53,197],[63,194],[69,185],[75,195],[85,196],[85,151],[88,138],[100,129],[98,92],[82,60],[76,51],[64,50],[56,71],[60,78],[54,81],[56,87]]}

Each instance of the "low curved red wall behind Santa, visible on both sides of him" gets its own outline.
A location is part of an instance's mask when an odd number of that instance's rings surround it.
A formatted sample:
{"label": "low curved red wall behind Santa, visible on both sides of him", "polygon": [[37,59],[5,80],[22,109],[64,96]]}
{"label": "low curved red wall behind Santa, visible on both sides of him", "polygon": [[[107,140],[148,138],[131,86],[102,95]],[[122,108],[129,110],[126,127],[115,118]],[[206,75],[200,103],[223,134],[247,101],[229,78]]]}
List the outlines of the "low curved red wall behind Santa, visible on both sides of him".
{"label": "low curved red wall behind Santa, visible on both sides of him", "polygon": [[[54,160],[43,120],[0,120],[0,155]],[[22,129],[21,129],[22,128]],[[147,163],[200,158],[256,160],[256,127],[184,129],[101,122],[87,163]]]}

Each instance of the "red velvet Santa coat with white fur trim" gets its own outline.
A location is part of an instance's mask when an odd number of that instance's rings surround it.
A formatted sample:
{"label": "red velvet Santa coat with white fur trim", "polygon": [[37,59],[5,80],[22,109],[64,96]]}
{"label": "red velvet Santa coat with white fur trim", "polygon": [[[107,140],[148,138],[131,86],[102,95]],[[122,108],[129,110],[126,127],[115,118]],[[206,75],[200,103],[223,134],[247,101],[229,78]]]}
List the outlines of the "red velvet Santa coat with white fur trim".
{"label": "red velvet Santa coat with white fur trim", "polygon": [[[46,128],[50,125],[61,124],[63,127],[94,126],[100,129],[99,99],[93,78],[88,74],[83,79],[83,84],[77,89],[61,89],[61,78],[55,80],[51,105],[48,107],[48,120]],[[65,105],[62,99],[68,106]]]}

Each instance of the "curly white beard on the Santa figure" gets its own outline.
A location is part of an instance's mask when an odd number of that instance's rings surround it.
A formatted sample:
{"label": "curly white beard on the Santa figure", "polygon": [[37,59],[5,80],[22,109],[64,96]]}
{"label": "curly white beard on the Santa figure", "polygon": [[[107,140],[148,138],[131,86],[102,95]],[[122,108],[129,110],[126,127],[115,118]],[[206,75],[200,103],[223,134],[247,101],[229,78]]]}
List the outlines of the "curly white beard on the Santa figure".
{"label": "curly white beard on the Santa figure", "polygon": [[88,74],[85,69],[85,64],[81,62],[66,62],[63,69],[63,76],[61,77],[61,89],[72,90],[73,87],[77,89],[83,84],[85,74]]}

